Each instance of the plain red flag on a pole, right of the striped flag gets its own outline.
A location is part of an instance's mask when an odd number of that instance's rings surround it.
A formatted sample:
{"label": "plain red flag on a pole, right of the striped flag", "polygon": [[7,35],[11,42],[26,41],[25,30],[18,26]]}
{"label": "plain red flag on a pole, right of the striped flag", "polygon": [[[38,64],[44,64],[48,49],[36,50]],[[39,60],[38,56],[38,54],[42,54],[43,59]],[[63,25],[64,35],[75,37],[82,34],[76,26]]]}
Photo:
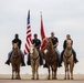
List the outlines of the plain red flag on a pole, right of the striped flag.
{"label": "plain red flag on a pole, right of the striped flag", "polygon": [[45,50],[46,40],[45,40],[45,33],[43,28],[42,13],[41,13],[41,39],[42,39],[41,51],[43,52]]}

